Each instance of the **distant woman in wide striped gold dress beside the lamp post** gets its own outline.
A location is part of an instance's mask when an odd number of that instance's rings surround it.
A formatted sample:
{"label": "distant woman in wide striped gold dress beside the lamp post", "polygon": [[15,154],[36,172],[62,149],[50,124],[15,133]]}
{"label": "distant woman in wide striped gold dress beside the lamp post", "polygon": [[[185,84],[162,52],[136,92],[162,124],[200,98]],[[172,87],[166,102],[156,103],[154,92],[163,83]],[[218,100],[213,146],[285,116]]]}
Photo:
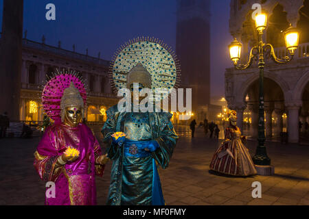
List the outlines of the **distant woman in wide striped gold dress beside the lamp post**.
{"label": "distant woman in wide striped gold dress beside the lamp post", "polygon": [[249,176],[257,172],[245,146],[246,137],[241,136],[236,126],[236,111],[229,112],[229,127],[225,129],[225,140],[217,149],[209,165],[210,170],[226,175]]}

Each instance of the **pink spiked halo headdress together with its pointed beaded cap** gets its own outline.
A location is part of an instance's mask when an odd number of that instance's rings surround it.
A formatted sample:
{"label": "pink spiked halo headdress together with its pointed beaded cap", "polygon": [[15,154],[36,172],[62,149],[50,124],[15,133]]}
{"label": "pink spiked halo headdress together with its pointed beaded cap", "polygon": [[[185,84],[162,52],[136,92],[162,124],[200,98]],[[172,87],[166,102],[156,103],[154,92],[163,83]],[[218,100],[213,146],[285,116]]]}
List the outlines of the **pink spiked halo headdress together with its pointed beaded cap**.
{"label": "pink spiked halo headdress together with its pointed beaded cap", "polygon": [[[65,98],[62,99],[62,96],[65,96]],[[70,98],[72,99],[70,100]],[[47,116],[55,122],[60,122],[61,108],[73,104],[72,101],[75,101],[76,106],[84,107],[86,105],[87,91],[84,81],[78,73],[73,71],[56,73],[47,81],[42,92],[43,109]]]}

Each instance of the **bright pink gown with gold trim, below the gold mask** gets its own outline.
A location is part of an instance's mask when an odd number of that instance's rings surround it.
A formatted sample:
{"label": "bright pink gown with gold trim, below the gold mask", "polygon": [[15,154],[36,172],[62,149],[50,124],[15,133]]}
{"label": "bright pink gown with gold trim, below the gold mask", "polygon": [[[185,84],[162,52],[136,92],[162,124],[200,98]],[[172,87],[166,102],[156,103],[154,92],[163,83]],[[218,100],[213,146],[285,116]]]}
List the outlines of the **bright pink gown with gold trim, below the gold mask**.
{"label": "bright pink gown with gold trim, below the gold mask", "polygon": [[[78,149],[80,157],[56,168],[58,156],[68,146]],[[55,198],[45,198],[45,205],[96,205],[95,175],[102,176],[104,166],[95,164],[100,144],[87,125],[48,127],[34,155],[38,175],[56,185]]]}

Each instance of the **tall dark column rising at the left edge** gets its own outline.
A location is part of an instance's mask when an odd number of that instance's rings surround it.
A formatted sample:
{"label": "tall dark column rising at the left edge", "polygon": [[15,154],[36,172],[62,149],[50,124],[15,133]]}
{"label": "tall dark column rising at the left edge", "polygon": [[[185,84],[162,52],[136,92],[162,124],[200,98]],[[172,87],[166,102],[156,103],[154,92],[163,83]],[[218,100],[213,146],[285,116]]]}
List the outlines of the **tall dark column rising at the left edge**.
{"label": "tall dark column rising at the left edge", "polygon": [[0,40],[0,114],[19,120],[21,92],[21,51],[23,38],[23,0],[3,0]]}

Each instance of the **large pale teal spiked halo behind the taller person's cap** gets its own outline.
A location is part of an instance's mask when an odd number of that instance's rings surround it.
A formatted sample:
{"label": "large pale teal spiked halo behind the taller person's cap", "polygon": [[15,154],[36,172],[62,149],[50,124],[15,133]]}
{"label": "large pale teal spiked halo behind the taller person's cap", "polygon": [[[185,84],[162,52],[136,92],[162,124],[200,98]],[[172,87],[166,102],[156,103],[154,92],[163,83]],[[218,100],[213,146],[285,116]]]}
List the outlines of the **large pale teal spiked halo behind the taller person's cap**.
{"label": "large pale teal spiked halo behind the taller person's cap", "polygon": [[139,63],[151,75],[152,90],[165,88],[170,94],[179,86],[181,70],[174,51],[162,40],[141,37],[122,45],[111,60],[109,73],[114,92],[126,88],[128,72]]}

